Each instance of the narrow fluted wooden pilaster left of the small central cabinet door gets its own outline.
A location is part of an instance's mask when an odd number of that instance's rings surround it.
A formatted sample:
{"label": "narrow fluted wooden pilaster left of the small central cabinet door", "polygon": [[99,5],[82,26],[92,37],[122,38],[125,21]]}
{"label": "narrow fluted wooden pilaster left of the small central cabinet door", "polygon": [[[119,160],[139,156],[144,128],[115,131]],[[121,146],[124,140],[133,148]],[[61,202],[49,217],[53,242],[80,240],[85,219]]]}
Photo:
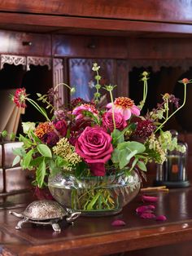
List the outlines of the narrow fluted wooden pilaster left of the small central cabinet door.
{"label": "narrow fluted wooden pilaster left of the small central cabinet door", "polygon": [[[53,60],[53,85],[55,86],[59,85],[60,83],[63,83],[63,59],[54,59]],[[55,101],[55,106],[59,107],[60,104],[64,104],[64,87],[58,86],[59,91],[59,101]]]}

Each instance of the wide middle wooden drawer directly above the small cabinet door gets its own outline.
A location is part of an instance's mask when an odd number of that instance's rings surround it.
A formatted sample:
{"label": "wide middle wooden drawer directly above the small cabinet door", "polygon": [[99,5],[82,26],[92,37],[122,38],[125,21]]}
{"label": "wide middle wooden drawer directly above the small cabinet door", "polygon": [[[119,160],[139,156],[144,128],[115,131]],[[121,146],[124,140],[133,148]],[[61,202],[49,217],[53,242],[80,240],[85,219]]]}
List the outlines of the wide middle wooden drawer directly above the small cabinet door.
{"label": "wide middle wooden drawer directly above the small cabinet door", "polygon": [[126,38],[53,36],[53,55],[83,58],[127,58]]}

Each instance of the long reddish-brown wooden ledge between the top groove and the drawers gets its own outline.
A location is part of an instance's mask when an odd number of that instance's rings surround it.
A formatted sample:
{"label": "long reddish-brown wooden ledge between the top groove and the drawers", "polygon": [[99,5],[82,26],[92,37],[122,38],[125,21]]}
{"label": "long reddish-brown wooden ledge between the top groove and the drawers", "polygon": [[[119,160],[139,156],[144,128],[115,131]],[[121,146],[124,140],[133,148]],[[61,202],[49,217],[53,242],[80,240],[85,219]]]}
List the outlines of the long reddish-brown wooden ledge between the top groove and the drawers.
{"label": "long reddish-brown wooden ledge between the top groove and the drawers", "polygon": [[[24,13],[0,15],[0,29],[28,31],[39,33],[63,33],[83,35],[108,35],[130,37],[161,37],[179,38],[191,37],[190,24],[168,24],[165,22],[146,22],[133,20],[96,19],[58,15],[32,15]],[[37,27],[38,26],[38,27]]]}

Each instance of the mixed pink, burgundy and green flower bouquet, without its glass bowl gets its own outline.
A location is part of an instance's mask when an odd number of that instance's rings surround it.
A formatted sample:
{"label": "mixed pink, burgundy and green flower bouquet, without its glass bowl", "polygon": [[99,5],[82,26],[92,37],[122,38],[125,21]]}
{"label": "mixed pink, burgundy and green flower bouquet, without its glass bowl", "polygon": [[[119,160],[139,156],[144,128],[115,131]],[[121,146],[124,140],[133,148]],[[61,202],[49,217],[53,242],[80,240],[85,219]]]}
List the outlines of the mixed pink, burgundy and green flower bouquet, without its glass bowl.
{"label": "mixed pink, burgundy and green flower bouquet, without its glass bowl", "polygon": [[[35,170],[33,182],[39,188],[46,186],[46,177],[59,171],[74,176],[107,176],[124,174],[129,176],[136,170],[145,177],[146,164],[151,161],[162,164],[168,150],[183,150],[172,139],[170,131],[164,131],[164,124],[185,104],[186,85],[191,82],[184,78],[180,82],[184,86],[184,102],[179,106],[174,95],[166,93],[162,103],[142,116],[142,108],[147,97],[147,80],[149,74],[142,73],[143,97],[138,106],[128,97],[113,99],[115,86],[103,88],[110,95],[111,102],[103,104],[100,94],[101,76],[99,66],[94,64],[95,93],[91,102],[84,99],[72,99],[68,107],[60,105],[55,108],[54,101],[58,98],[58,86],[50,89],[47,95],[37,94],[38,101],[46,104],[42,108],[37,101],[30,99],[24,88],[17,89],[12,96],[14,103],[21,108],[33,104],[39,111],[44,122],[23,123],[24,135],[20,135],[23,147],[15,149],[13,165],[20,162],[24,169]],[[169,105],[175,111],[169,114]],[[47,111],[49,110],[49,114]],[[50,117],[50,115],[52,117]]]}

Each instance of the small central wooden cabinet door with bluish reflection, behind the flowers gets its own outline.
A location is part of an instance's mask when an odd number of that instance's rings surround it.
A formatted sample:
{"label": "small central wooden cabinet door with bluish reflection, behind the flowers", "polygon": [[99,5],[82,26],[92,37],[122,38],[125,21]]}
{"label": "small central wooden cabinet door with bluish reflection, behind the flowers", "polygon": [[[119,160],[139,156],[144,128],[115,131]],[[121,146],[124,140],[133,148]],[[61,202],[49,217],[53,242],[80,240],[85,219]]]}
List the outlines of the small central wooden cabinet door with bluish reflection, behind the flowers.
{"label": "small central wooden cabinet door with bluish reflection, behind the flowers", "polygon": [[[122,61],[124,62],[124,60]],[[76,93],[72,95],[72,99],[77,97],[87,101],[94,99],[94,92],[96,91],[94,88],[96,73],[92,70],[94,63],[101,67],[98,73],[102,77],[100,80],[102,87],[109,84],[115,86],[117,82],[120,82],[113,90],[114,98],[122,95],[122,93],[124,96],[127,95],[129,71],[120,62],[120,60],[113,59],[69,59],[69,83],[76,88]],[[106,94],[108,101],[110,100],[107,90],[102,88],[101,93],[102,95]]]}

